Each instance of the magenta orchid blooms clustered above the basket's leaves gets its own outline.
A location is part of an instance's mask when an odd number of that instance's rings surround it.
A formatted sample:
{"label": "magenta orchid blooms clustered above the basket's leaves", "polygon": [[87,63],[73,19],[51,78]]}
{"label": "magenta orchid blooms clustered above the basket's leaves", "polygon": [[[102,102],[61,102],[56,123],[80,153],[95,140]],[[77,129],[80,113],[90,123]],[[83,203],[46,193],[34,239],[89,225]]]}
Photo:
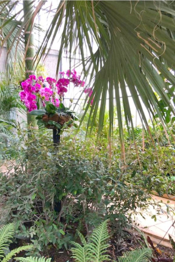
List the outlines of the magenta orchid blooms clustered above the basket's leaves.
{"label": "magenta orchid blooms clustered above the basket's leaves", "polygon": [[[57,82],[56,79],[52,77],[44,79],[42,76],[37,78],[35,75],[30,75],[28,79],[21,83],[23,90],[19,92],[19,96],[29,112],[37,109],[37,97],[42,100],[44,107],[47,101],[59,107],[60,101],[65,93],[67,93],[67,88],[70,83],[72,83],[74,87],[85,86],[85,82],[80,79],[80,75],[77,75],[75,70],[67,70],[66,73],[60,72],[60,74],[63,77]],[[56,98],[56,93],[58,93],[59,99]]]}

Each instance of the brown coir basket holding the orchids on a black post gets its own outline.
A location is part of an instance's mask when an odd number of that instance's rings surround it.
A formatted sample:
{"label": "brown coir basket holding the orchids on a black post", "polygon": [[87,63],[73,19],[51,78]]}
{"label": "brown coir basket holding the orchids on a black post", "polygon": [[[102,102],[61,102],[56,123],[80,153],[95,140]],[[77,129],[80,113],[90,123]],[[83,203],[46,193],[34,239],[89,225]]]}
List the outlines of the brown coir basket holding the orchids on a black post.
{"label": "brown coir basket holding the orchids on a black post", "polygon": [[[49,116],[49,115],[43,115],[43,117],[42,117],[42,120],[44,121],[44,122],[48,122],[49,120],[51,120],[51,121],[55,121],[55,122],[57,122],[57,123],[59,123],[61,126],[63,126],[64,125],[64,123],[66,123],[66,122],[69,122],[69,121],[73,121],[73,119],[71,118],[71,116],[69,116],[69,115],[57,115],[57,114],[55,114],[55,115],[53,115],[53,116]],[[73,125],[73,123],[71,123],[71,124],[69,124],[69,125],[67,125],[68,127],[71,127]],[[46,128],[48,128],[48,129],[57,129],[57,127],[56,126],[54,126],[54,125],[46,125]]]}

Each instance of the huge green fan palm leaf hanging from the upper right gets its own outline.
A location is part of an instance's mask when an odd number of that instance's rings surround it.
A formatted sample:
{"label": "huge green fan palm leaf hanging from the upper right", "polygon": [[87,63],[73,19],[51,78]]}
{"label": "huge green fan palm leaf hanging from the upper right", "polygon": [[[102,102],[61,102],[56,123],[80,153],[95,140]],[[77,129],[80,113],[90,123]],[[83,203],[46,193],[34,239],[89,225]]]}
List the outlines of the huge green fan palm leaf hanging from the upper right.
{"label": "huge green fan palm leaf hanging from the upper right", "polygon": [[[45,1],[40,2],[44,5]],[[36,9],[33,16],[37,12],[39,11]],[[93,87],[91,98],[94,100],[90,118],[92,117],[92,122],[95,121],[100,107],[100,134],[109,101],[111,135],[115,99],[123,144],[125,123],[128,128],[131,127],[134,137],[133,109],[128,100],[128,91],[144,128],[149,129],[143,105],[150,116],[154,118],[157,113],[162,124],[166,123],[155,92],[174,114],[174,104],[168,94],[169,85],[165,81],[166,79],[170,85],[175,85],[174,15],[174,1],[60,1],[37,56],[41,58],[46,48],[51,48],[62,29],[57,73],[64,50],[69,53],[70,65],[72,57],[81,54],[85,77],[90,73],[90,86]],[[23,21],[21,27],[24,28],[25,23],[27,21]],[[21,27],[16,36],[21,33]],[[90,100],[87,104],[85,102],[83,117],[90,107]],[[122,104],[125,123],[122,120]],[[81,123],[82,121],[83,118]]]}

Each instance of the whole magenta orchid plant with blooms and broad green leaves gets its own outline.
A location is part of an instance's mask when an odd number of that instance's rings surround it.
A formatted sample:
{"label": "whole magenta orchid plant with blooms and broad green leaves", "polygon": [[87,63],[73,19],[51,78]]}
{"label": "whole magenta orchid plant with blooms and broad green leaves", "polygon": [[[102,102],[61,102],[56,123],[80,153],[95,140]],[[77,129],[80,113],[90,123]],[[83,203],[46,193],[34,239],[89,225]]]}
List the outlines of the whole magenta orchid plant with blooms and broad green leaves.
{"label": "whole magenta orchid plant with blooms and broad green leaves", "polygon": [[[54,128],[59,129],[66,127],[66,125],[64,125],[64,121],[62,121],[62,123],[59,123],[58,120],[54,121],[54,115],[59,117],[69,116],[69,121],[66,121],[67,125],[77,120],[74,112],[70,111],[70,109],[63,104],[69,84],[72,83],[74,87],[85,86],[85,82],[80,79],[80,75],[77,75],[75,70],[67,70],[67,72],[60,72],[60,74],[62,78],[58,81],[51,77],[44,79],[42,76],[37,78],[35,75],[30,75],[28,79],[21,83],[23,90],[19,92],[20,98],[22,102],[24,102],[29,114],[37,116],[38,124],[43,124],[46,127],[48,127],[48,125],[54,126]],[[84,92],[88,93],[89,96],[92,95],[91,88],[85,89]],[[38,108],[39,100],[41,101],[42,109]],[[92,102],[93,100],[91,103]]]}

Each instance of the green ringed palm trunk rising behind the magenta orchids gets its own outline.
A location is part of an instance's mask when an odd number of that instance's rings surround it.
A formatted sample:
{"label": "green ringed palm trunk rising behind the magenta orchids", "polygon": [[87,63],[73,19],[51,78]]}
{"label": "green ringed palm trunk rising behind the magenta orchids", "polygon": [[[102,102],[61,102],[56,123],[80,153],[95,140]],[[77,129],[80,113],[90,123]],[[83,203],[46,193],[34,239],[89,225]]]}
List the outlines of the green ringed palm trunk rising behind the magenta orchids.
{"label": "green ringed palm trunk rising behind the magenta orchids", "polygon": [[[32,0],[23,1],[23,9],[24,9],[24,19],[29,17],[29,21],[25,27],[25,73],[26,79],[29,75],[35,74],[35,64],[34,64],[34,57],[35,57],[35,35],[34,35],[34,23],[32,22]],[[31,14],[31,15],[30,15]],[[27,112],[27,124],[28,127],[32,127],[34,129],[38,129],[37,121],[35,120],[35,116],[28,114]]]}

